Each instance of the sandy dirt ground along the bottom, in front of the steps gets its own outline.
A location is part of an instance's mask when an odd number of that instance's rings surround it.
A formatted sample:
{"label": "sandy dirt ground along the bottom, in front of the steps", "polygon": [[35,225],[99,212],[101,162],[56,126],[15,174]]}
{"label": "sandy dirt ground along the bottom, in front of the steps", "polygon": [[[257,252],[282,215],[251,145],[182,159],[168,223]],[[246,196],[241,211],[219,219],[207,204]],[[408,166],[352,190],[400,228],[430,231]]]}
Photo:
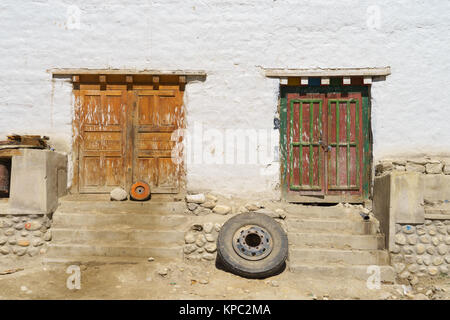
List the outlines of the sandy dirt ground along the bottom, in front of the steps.
{"label": "sandy dirt ground along the bottom, in front of the steps", "polygon": [[[216,268],[168,261],[81,265],[80,286],[68,289],[68,266],[40,261],[14,262],[0,267],[0,299],[450,299],[450,277],[409,285],[382,284],[369,290],[364,281],[304,279],[285,270],[263,280],[244,279]],[[13,271],[4,274],[5,271]],[[15,271],[15,272],[14,272]],[[69,281],[70,282],[70,281]],[[73,282],[71,282],[73,283]]]}

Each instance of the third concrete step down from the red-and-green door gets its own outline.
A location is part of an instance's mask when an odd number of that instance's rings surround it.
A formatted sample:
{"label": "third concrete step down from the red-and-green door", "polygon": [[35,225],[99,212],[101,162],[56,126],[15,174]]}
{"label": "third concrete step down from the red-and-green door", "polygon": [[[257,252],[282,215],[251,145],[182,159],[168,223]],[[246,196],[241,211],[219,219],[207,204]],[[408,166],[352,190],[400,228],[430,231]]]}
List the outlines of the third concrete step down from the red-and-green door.
{"label": "third concrete step down from the red-and-green door", "polygon": [[288,232],[289,246],[296,248],[384,249],[383,235]]}

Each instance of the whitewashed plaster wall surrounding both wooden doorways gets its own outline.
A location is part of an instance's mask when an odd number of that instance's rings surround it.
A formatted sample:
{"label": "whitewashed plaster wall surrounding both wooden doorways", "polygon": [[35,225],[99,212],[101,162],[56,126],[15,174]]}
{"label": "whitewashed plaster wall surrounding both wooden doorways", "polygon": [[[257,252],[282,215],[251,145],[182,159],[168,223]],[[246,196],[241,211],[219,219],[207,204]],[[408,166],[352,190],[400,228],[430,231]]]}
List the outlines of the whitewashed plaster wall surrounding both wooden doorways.
{"label": "whitewashed plaster wall surrounding both wooden doorways", "polygon": [[[204,69],[187,86],[189,128],[271,131],[278,82],[260,67],[389,65],[372,87],[375,159],[449,154],[449,14],[442,0],[2,0],[0,137],[45,134],[70,151],[71,85],[50,68]],[[274,196],[267,165],[190,164],[188,187]]]}

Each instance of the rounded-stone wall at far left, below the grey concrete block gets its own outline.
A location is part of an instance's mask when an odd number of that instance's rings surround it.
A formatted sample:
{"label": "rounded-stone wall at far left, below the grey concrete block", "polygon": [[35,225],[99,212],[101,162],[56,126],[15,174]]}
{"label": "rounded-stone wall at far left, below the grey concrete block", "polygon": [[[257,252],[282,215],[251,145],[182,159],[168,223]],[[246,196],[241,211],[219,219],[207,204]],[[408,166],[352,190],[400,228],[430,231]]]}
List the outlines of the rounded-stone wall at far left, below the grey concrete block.
{"label": "rounded-stone wall at far left, below the grey concrete block", "polygon": [[48,215],[0,216],[0,259],[4,256],[37,256],[52,239]]}

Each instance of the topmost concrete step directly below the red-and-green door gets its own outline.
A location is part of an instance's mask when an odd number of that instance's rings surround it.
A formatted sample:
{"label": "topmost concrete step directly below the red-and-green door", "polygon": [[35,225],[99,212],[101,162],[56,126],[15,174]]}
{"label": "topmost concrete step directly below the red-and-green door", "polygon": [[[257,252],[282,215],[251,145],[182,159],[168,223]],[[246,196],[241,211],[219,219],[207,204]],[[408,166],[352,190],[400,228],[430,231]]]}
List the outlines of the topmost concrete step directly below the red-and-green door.
{"label": "topmost concrete step directly below the red-and-green door", "polygon": [[342,219],[344,217],[356,217],[362,211],[361,208],[343,206],[304,206],[299,204],[289,204],[285,206],[288,217],[292,218],[316,218],[316,219]]}

